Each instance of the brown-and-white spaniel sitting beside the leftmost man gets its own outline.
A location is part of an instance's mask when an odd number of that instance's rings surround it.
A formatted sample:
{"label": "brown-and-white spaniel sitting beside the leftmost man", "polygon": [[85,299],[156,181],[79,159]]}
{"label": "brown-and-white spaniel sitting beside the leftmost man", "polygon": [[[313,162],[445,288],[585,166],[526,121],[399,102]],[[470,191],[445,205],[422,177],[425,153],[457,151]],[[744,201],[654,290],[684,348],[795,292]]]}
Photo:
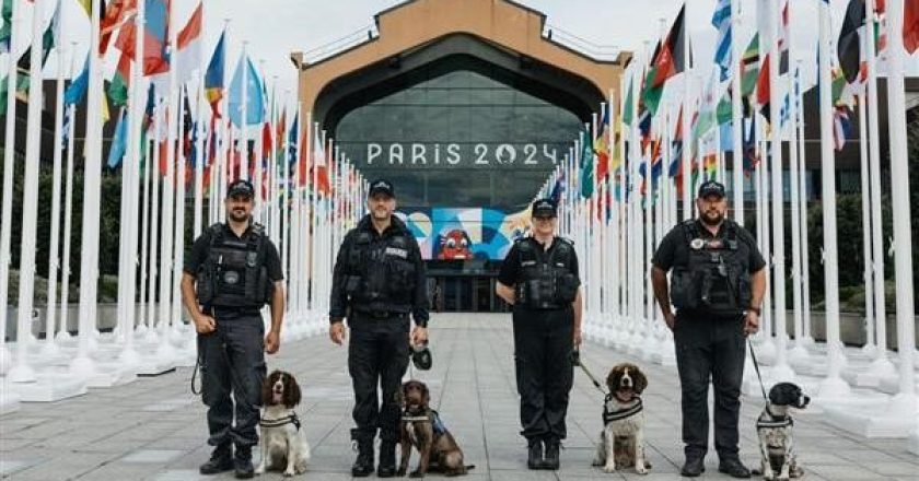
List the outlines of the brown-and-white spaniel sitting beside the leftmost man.
{"label": "brown-and-white spaniel sitting beside the leftmost man", "polygon": [[290,373],[275,371],[261,386],[261,404],[265,410],[258,424],[261,426],[261,461],[255,472],[284,470],[284,477],[302,474],[310,462],[310,444],[300,429],[300,419],[293,408],[300,403],[300,386]]}

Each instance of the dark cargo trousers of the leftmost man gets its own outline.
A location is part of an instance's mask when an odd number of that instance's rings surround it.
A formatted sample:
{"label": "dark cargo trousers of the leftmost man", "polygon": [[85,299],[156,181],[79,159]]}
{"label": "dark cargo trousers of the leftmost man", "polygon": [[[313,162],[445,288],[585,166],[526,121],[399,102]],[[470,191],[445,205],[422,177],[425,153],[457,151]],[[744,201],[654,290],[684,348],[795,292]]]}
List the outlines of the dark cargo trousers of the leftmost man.
{"label": "dark cargo trousers of the leftmost man", "polygon": [[229,447],[232,442],[236,449],[251,448],[258,444],[256,425],[266,375],[265,325],[257,312],[217,316],[214,320],[213,332],[198,335],[208,444]]}

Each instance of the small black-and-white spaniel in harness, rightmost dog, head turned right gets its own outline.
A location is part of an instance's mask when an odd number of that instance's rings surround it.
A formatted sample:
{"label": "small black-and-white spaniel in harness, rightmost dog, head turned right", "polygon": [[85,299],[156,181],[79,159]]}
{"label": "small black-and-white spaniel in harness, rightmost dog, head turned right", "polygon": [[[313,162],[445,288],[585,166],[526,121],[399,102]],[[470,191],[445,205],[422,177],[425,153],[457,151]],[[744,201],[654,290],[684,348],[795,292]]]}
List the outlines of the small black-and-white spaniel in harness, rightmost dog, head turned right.
{"label": "small black-and-white spaniel in harness, rightmost dog, head turned right", "polygon": [[[756,434],[759,437],[760,471],[767,481],[787,481],[789,478],[801,478],[804,470],[798,466],[794,456],[791,427],[791,408],[804,409],[811,402],[798,385],[779,383],[769,389],[769,402],[763,413],[756,419]],[[778,472],[778,476],[776,476]]]}

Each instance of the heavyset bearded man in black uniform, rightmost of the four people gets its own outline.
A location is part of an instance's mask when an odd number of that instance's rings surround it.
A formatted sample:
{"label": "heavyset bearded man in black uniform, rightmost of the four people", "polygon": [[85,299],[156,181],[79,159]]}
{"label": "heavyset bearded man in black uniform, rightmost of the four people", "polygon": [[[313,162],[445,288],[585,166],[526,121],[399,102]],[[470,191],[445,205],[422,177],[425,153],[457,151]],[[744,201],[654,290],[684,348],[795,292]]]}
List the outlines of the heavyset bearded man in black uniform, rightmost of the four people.
{"label": "heavyset bearded man in black uniform, rightmost of the four people", "polygon": [[749,478],[738,456],[737,422],[745,339],[759,328],[766,261],[753,236],[724,219],[728,201],[722,184],[702,183],[696,207],[699,218],[667,233],[651,260],[654,296],[676,344],[686,455],[682,473],[697,477],[705,471],[711,377],[718,470],[734,478]]}

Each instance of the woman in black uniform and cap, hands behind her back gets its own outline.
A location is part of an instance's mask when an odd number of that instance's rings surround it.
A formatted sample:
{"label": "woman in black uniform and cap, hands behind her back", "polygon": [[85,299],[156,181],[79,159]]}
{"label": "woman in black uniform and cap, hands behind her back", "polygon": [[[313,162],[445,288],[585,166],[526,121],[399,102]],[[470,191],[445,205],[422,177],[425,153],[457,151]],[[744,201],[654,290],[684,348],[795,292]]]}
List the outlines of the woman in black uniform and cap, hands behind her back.
{"label": "woman in black uniform and cap, hands behind her back", "polygon": [[[521,434],[530,469],[558,469],[559,444],[581,343],[581,281],[570,241],[555,235],[551,199],[533,203],[533,236],[514,243],[501,265],[496,293],[513,306],[514,362]],[[545,449],[545,450],[544,450]]]}

